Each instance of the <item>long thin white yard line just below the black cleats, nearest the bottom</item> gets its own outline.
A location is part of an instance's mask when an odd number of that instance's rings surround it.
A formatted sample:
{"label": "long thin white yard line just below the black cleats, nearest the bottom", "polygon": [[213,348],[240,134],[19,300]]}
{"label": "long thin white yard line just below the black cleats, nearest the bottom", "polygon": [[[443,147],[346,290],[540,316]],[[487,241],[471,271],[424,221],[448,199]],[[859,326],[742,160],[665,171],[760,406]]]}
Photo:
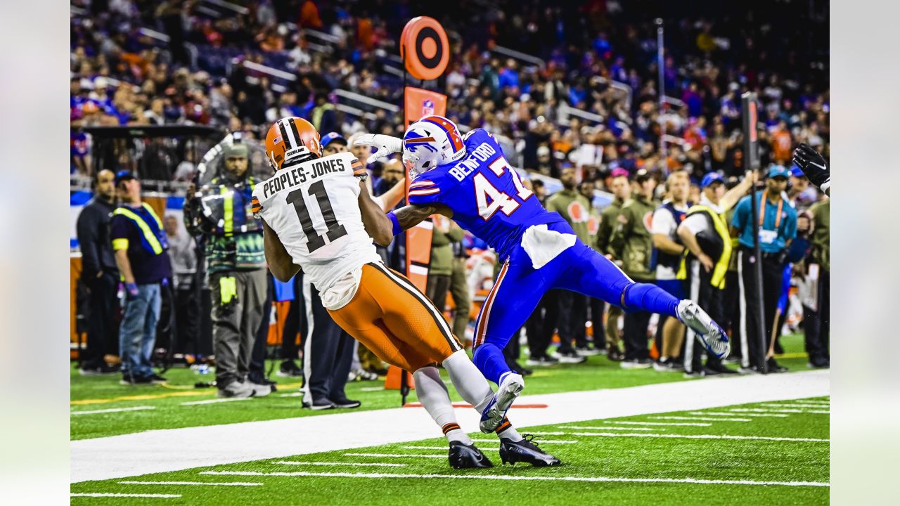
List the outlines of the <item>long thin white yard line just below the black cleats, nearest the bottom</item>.
{"label": "long thin white yard line just below the black cleats, nearest the bottom", "polygon": [[626,478],[608,476],[536,476],[536,475],[504,475],[504,474],[388,474],[388,473],[257,473],[254,471],[203,471],[201,474],[229,474],[238,476],[330,476],[339,478],[416,478],[447,480],[512,480],[528,482],[626,482],[626,483],[697,483],[715,485],[758,485],[758,486],[792,486],[792,487],[827,487],[823,482],[756,482],[752,480],[700,480],[696,478]]}

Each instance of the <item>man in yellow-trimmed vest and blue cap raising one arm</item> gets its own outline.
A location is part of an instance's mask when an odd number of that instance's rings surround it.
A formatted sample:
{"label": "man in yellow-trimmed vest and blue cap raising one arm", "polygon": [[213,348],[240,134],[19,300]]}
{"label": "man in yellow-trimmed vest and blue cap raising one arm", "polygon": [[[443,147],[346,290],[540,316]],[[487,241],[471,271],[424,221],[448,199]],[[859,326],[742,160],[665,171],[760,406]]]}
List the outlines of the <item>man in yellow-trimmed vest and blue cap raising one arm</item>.
{"label": "man in yellow-trimmed vest and blue cap raising one arm", "polygon": [[[678,227],[678,235],[686,250],[681,258],[677,277],[686,283],[685,292],[695,303],[707,309],[710,318],[722,318],[725,275],[731,262],[733,241],[725,212],[751,188],[753,173],[725,193],[725,181],[717,172],[710,172],[700,182],[700,202],[688,210]],[[688,332],[693,332],[688,330]],[[689,375],[737,374],[722,365],[719,358],[708,356],[701,366],[703,348],[692,346],[696,339],[686,339],[684,369]]]}

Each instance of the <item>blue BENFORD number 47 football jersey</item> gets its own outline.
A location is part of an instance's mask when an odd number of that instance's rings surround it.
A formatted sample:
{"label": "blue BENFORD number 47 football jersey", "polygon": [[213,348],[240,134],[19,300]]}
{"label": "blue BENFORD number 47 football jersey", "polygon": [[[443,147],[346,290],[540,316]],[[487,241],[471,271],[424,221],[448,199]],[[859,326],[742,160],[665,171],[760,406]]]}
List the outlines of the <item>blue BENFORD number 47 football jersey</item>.
{"label": "blue BENFORD number 47 football jersey", "polygon": [[417,176],[410,184],[410,203],[443,203],[460,227],[487,242],[499,258],[518,245],[532,225],[563,221],[548,212],[509,167],[500,144],[483,129],[464,139],[466,156]]}

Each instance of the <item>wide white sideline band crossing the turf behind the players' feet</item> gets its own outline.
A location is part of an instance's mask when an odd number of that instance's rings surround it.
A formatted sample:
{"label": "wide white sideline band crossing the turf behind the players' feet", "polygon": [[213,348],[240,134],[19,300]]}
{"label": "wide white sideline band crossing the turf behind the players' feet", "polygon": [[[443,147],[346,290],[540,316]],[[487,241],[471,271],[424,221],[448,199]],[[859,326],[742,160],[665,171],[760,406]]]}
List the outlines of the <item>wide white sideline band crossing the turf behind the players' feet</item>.
{"label": "wide white sideline band crossing the turf behind the players' feet", "polygon": [[[748,402],[789,401],[829,395],[830,377],[829,371],[818,370],[525,395],[518,402],[544,403],[548,409],[518,410],[510,418],[517,428],[522,429],[668,411],[705,410]],[[464,429],[477,430],[480,417],[476,411],[459,408],[455,409],[455,414]],[[652,425],[649,422],[631,424]],[[71,441],[70,481],[126,478],[438,436],[440,431],[428,412],[410,408],[148,430]]]}

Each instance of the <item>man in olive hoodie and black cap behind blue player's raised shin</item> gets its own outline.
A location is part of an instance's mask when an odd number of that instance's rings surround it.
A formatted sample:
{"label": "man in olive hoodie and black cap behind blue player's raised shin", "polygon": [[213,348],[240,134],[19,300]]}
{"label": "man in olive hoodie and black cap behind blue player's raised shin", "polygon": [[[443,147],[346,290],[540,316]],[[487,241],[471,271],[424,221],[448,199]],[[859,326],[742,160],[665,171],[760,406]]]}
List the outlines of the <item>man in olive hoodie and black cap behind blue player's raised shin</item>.
{"label": "man in olive hoodie and black cap behind blue player's raised shin", "polygon": [[[653,260],[653,239],[650,228],[653,211],[659,202],[653,200],[656,180],[645,170],[635,175],[637,191],[626,202],[617,217],[609,243],[614,250],[621,251],[622,270],[637,282],[653,283],[656,277],[650,270]],[[650,325],[649,312],[627,312],[625,315],[625,369],[644,369],[653,365],[647,348],[647,328]]]}

